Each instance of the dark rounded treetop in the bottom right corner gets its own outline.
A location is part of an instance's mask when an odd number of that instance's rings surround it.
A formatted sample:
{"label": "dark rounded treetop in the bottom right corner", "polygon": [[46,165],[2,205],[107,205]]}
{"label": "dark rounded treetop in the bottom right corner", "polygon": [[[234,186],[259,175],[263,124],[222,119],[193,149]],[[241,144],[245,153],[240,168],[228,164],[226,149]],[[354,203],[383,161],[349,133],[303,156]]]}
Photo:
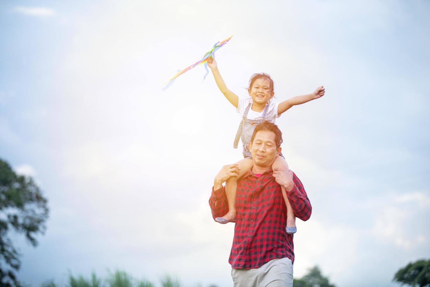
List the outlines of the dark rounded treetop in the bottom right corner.
{"label": "dark rounded treetop in the bottom right corner", "polygon": [[402,285],[430,286],[430,259],[410,262],[396,272],[393,281],[400,282]]}

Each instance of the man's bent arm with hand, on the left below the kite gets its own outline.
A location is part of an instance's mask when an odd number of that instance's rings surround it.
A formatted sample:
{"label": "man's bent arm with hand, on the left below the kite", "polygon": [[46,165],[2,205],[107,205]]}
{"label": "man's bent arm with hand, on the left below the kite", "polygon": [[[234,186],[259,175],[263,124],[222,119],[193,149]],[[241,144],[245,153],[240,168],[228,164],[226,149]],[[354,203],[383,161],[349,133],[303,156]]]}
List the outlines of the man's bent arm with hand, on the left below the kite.
{"label": "man's bent arm with hand, on the left below the kite", "polygon": [[231,176],[237,176],[239,170],[240,168],[237,164],[224,165],[215,176],[212,194],[209,198],[209,206],[211,207],[214,220],[217,217],[224,216],[228,212],[227,195],[225,194],[225,188],[222,184]]}

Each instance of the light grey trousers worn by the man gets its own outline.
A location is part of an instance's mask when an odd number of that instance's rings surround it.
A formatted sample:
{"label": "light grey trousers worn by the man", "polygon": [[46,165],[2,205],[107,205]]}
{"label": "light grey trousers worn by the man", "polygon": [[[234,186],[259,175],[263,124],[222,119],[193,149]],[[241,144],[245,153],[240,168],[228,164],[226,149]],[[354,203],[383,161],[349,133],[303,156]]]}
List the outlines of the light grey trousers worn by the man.
{"label": "light grey trousers worn by the man", "polygon": [[259,268],[231,269],[234,287],[292,287],[293,265],[288,257],[273,259]]}

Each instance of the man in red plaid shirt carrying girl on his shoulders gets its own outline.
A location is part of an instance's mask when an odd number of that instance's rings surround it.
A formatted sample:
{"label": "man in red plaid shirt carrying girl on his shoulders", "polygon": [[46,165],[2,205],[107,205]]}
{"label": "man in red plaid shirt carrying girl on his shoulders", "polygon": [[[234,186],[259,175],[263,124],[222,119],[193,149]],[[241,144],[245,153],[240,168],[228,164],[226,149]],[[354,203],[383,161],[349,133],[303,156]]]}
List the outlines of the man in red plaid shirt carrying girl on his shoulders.
{"label": "man in red plaid shirt carrying girl on his shoulders", "polygon": [[[293,285],[293,235],[285,230],[287,209],[281,185],[296,217],[306,221],[312,207],[291,170],[271,170],[281,143],[282,133],[275,124],[264,121],[255,127],[249,143],[254,166],[237,185],[237,219],[228,260],[235,287]],[[214,220],[228,212],[222,183],[236,175],[237,165],[231,164],[215,176],[209,199]]]}

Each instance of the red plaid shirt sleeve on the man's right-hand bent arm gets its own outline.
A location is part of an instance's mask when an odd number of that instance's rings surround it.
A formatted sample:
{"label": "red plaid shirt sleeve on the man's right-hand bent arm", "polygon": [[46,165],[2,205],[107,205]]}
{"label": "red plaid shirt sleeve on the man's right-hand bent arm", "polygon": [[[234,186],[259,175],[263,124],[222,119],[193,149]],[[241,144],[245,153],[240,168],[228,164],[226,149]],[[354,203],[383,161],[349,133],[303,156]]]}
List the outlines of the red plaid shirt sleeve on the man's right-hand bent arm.
{"label": "red plaid shirt sleeve on the man's right-hand bent arm", "polygon": [[310,205],[309,198],[307,197],[306,191],[304,190],[303,184],[300,179],[295,175],[293,176],[294,188],[291,191],[287,191],[288,201],[290,202],[291,208],[294,211],[296,217],[303,221],[310,218],[312,213],[312,206]]}

